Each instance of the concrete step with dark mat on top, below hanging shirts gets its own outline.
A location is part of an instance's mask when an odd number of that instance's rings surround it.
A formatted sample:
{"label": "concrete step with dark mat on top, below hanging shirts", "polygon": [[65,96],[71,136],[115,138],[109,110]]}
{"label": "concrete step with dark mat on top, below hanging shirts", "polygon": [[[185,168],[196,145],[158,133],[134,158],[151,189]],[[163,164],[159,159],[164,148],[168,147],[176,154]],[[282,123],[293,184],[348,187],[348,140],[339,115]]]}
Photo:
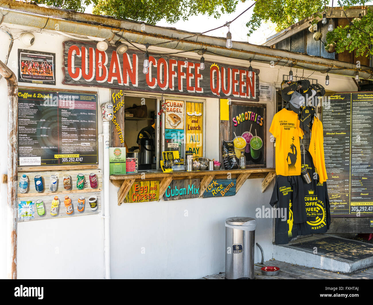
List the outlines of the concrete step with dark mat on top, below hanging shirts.
{"label": "concrete step with dark mat on top, below hanging shirts", "polygon": [[316,234],[287,245],[273,245],[273,259],[333,272],[352,273],[373,266],[373,245],[330,234]]}

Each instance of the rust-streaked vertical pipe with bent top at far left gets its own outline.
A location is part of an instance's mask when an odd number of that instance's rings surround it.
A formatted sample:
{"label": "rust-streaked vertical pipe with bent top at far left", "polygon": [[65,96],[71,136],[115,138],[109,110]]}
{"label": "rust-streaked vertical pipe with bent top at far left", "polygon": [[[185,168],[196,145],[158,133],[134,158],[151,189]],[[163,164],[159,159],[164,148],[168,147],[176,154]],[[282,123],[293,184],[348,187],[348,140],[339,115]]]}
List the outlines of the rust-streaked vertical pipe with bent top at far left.
{"label": "rust-streaked vertical pipe with bent top at far left", "polygon": [[9,279],[17,279],[18,83],[2,61],[0,74],[8,82],[7,274]]}

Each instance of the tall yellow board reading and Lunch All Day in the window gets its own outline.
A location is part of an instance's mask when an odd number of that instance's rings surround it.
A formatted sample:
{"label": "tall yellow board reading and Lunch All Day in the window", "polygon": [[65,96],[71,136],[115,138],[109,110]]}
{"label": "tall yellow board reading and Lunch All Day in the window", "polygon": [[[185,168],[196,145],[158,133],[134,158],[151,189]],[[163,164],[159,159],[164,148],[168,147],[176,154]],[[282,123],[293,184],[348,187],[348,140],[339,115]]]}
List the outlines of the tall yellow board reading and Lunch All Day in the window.
{"label": "tall yellow board reading and Lunch All Day in the window", "polygon": [[185,151],[192,150],[193,160],[203,157],[203,103],[185,104]]}

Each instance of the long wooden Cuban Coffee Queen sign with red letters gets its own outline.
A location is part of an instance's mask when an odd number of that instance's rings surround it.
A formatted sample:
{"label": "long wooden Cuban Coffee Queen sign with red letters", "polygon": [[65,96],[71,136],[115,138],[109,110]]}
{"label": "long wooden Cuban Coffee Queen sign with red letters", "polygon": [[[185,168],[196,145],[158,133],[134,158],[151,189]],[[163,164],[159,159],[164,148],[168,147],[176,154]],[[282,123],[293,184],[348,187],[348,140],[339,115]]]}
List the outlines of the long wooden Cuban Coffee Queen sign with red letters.
{"label": "long wooden Cuban Coffee Queen sign with red letters", "polygon": [[182,94],[201,97],[259,101],[259,70],[249,77],[247,67],[227,66],[199,60],[149,54],[149,73],[142,73],[144,53],[115,48],[96,49],[96,44],[65,41],[64,80],[66,85],[93,86]]}

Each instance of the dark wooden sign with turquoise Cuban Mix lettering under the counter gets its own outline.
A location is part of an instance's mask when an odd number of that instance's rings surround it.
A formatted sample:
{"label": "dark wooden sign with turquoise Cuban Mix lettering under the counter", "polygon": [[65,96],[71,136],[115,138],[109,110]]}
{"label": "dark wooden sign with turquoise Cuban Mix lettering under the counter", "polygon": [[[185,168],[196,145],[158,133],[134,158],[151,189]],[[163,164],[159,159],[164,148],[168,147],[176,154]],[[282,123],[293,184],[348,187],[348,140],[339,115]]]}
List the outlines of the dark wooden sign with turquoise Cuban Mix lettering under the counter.
{"label": "dark wooden sign with turquoise Cuban Mix lettering under the counter", "polygon": [[200,179],[173,180],[164,192],[163,200],[198,198],[200,196]]}

